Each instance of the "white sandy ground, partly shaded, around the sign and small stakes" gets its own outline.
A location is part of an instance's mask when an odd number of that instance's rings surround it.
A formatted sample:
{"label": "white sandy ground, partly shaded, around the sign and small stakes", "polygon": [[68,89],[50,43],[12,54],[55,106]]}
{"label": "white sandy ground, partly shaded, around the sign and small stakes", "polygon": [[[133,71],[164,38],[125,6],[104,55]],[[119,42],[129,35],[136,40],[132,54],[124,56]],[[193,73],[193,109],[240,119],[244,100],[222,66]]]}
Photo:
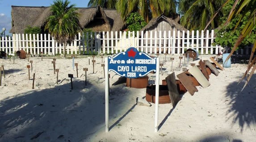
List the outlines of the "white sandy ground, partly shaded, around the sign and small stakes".
{"label": "white sandy ground, partly shaded, around the sign and small stakes", "polygon": [[[209,60],[213,55],[200,55]],[[179,56],[167,56],[164,75],[171,69],[170,57],[175,57],[173,69],[178,71]],[[234,57],[233,57],[234,58]],[[75,58],[78,77],[72,69],[72,59],[56,60],[59,84],[56,84],[53,57],[30,57],[33,72],[25,59],[0,59],[4,65],[0,86],[0,142],[254,142],[256,138],[256,76],[242,91],[244,81],[237,85],[247,65],[232,63],[231,68],[210,75],[210,86],[191,96],[188,92],[172,108],[159,104],[159,131],[155,132],[155,104],[136,105],[137,97],[145,97],[146,89],[112,86],[118,75],[109,72],[109,132],[105,133],[105,79],[101,58],[96,57],[95,73],[88,58]],[[91,57],[92,60],[92,57]],[[160,56],[164,61],[164,55]],[[198,61],[193,61],[198,64]],[[182,60],[181,64],[183,64]],[[88,83],[84,85],[83,68],[88,68]],[[72,73],[73,89],[68,74]],[[149,74],[153,80],[154,74]],[[31,140],[32,139],[32,140]]]}

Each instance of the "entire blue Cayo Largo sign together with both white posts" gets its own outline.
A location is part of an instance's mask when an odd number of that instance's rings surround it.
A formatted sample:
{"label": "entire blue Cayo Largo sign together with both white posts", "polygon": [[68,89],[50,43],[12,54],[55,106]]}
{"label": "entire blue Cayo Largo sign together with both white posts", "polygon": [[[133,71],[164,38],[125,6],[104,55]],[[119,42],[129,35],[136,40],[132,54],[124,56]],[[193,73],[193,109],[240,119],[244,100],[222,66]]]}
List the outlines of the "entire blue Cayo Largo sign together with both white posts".
{"label": "entire blue Cayo Largo sign together with both white posts", "polygon": [[[158,103],[159,103],[159,58],[150,57],[146,53],[138,52],[134,47],[126,52],[118,53],[114,57],[105,58],[105,74],[109,71],[128,78],[143,77],[151,71],[156,72],[155,81],[155,132],[158,131]],[[109,131],[109,77],[105,76],[105,131]]]}

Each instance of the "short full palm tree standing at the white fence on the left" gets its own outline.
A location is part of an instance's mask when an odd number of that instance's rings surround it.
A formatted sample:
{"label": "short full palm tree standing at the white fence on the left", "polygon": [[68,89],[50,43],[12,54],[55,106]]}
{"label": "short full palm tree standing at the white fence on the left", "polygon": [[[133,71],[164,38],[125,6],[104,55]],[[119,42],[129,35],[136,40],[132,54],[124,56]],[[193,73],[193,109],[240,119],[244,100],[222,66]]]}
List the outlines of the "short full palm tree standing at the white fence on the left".
{"label": "short full palm tree standing at the white fence on the left", "polygon": [[66,57],[66,45],[74,41],[80,30],[79,13],[75,4],[69,5],[68,0],[56,0],[50,6],[51,15],[47,18],[45,30],[54,37],[59,44],[63,44],[64,57]]}

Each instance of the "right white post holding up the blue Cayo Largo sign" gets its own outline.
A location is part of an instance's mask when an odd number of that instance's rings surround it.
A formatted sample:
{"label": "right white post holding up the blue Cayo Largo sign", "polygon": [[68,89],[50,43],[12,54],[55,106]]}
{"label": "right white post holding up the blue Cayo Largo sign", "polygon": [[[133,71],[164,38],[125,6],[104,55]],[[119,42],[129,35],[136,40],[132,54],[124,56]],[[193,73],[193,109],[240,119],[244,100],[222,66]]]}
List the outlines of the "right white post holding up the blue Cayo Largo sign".
{"label": "right white post holding up the blue Cayo Largo sign", "polygon": [[159,103],[159,58],[156,58],[155,77],[155,132],[158,131],[158,103]]}

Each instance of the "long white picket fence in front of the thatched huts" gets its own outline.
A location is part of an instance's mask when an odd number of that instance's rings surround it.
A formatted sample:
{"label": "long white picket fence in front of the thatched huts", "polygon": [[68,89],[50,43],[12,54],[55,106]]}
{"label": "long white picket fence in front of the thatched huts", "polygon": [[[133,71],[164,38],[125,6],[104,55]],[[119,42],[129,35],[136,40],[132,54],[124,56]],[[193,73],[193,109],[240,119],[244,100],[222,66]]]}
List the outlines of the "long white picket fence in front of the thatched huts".
{"label": "long white picket fence in front of the thatched huts", "polygon": [[[146,31],[146,32],[92,32],[82,35],[66,46],[66,54],[114,54],[135,47],[140,52],[151,54],[183,54],[186,49],[196,49],[199,54],[218,54],[223,52],[220,46],[213,46],[214,30],[204,31]],[[32,55],[56,55],[63,53],[63,45],[50,34],[13,34],[13,37],[0,38],[0,51],[16,53],[25,50]],[[249,54],[251,47],[245,48]],[[237,51],[237,54],[244,54]]]}

